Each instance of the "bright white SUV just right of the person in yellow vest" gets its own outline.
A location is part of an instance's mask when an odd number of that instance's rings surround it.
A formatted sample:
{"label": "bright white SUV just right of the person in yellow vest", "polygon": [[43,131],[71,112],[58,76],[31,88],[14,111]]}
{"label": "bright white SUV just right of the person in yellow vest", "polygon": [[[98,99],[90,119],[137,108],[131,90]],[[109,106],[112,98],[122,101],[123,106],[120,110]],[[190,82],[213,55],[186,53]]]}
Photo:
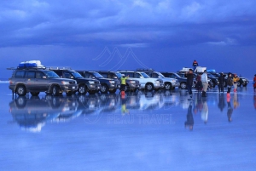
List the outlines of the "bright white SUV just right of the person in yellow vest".
{"label": "bright white SUV just right of the person in yellow vest", "polygon": [[121,74],[125,74],[125,77],[129,76],[131,79],[137,80],[141,84],[141,88],[145,88],[148,91],[164,88],[165,84],[163,80],[159,78],[149,77],[143,71],[118,71]]}

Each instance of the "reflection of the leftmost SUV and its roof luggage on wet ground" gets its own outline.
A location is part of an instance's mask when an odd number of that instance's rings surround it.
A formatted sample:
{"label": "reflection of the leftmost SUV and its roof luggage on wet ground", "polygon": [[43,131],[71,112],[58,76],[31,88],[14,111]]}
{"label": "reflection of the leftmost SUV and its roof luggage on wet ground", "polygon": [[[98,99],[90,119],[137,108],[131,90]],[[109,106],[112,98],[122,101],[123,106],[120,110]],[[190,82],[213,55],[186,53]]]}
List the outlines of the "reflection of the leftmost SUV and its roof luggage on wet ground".
{"label": "reflection of the leftmost SUV and its roof luggage on wet ground", "polygon": [[20,128],[38,132],[47,122],[78,117],[81,112],[77,104],[75,99],[67,97],[46,95],[43,99],[26,99],[19,96],[9,103],[9,111]]}

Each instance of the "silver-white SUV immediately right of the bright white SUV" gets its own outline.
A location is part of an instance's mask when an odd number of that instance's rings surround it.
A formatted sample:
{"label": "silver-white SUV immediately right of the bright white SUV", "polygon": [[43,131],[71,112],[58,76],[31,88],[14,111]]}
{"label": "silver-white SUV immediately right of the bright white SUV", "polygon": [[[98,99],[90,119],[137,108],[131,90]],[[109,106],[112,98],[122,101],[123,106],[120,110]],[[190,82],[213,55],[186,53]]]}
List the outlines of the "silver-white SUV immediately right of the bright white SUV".
{"label": "silver-white SUV immediately right of the bright white SUV", "polygon": [[163,76],[159,71],[144,71],[149,77],[160,78],[165,83],[166,90],[175,89],[179,87],[179,83],[176,78],[170,78]]}

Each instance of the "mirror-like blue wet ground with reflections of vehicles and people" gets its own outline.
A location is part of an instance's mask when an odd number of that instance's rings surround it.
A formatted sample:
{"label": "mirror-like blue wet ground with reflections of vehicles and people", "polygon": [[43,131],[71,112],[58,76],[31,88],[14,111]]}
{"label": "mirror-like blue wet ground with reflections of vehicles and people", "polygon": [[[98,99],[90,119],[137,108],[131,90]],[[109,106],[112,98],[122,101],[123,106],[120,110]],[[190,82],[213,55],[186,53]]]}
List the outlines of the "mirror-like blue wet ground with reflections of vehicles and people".
{"label": "mirror-like blue wet ground with reflections of vehicles and people", "polygon": [[255,170],[256,94],[185,90],[13,98],[0,84],[0,170]]}

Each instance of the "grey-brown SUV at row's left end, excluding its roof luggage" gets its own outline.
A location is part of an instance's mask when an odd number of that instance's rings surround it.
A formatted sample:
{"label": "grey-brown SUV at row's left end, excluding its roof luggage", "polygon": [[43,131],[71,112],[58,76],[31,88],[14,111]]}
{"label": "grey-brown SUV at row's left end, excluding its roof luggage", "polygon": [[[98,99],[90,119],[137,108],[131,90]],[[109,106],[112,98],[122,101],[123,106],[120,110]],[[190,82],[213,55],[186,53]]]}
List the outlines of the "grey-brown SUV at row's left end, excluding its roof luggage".
{"label": "grey-brown SUV at row's left end, excluding its roof luggage", "polygon": [[45,69],[16,69],[9,78],[9,89],[19,96],[25,96],[30,92],[37,96],[40,92],[55,96],[65,92],[67,95],[77,91],[78,85],[75,80],[60,78],[54,71]]}

